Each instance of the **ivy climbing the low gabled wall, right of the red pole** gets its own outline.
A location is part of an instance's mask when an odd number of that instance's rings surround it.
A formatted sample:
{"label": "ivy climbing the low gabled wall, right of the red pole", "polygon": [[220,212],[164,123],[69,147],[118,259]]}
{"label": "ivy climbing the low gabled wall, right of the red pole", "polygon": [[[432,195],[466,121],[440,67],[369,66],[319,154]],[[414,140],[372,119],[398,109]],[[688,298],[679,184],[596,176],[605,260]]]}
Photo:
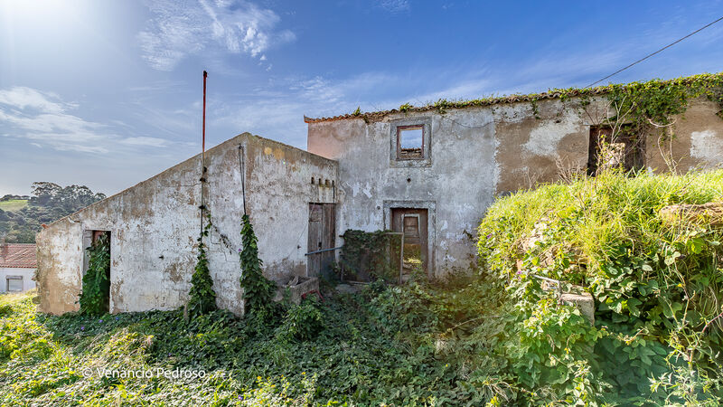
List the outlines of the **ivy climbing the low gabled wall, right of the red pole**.
{"label": "ivy climbing the low gabled wall, right of the red pole", "polygon": [[261,270],[263,262],[258,258],[258,238],[248,214],[241,218],[241,239],[243,248],[239,251],[239,259],[244,310],[249,315],[263,319],[272,311],[271,298],[276,284],[264,277]]}

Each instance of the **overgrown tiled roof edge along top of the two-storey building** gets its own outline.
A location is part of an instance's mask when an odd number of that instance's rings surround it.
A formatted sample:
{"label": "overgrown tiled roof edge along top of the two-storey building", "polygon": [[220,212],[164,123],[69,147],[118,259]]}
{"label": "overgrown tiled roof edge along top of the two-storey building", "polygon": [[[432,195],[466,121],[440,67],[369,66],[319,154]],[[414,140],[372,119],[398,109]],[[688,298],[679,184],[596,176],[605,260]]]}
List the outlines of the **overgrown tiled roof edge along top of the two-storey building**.
{"label": "overgrown tiled roof edge along top of the two-storey building", "polygon": [[399,113],[399,112],[424,112],[429,110],[439,110],[443,111],[444,109],[464,109],[464,108],[472,108],[472,107],[482,107],[482,106],[491,106],[496,104],[502,104],[502,103],[517,103],[517,102],[534,102],[542,99],[568,99],[568,98],[574,98],[578,96],[597,96],[597,95],[605,95],[607,93],[610,93],[613,90],[617,90],[620,88],[626,88],[626,87],[632,87],[632,86],[663,86],[669,83],[681,83],[681,84],[690,84],[696,81],[719,81],[723,79],[723,72],[719,73],[701,73],[699,75],[692,75],[688,77],[681,77],[671,80],[647,80],[647,81],[637,81],[637,82],[630,82],[626,84],[614,84],[611,83],[606,86],[598,86],[595,88],[568,88],[568,89],[551,89],[546,92],[540,92],[540,93],[530,93],[527,95],[524,94],[513,94],[513,95],[507,95],[507,96],[491,96],[486,98],[480,98],[480,99],[470,99],[470,100],[447,100],[447,99],[439,99],[437,102],[429,103],[425,106],[412,106],[410,104],[404,104],[399,107],[399,109],[390,109],[390,110],[380,110],[380,111],[371,111],[371,112],[360,112],[356,111],[354,113],[347,113],[339,116],[333,116],[328,118],[307,118],[304,117],[305,123],[318,123],[323,121],[333,121],[333,120],[344,120],[349,118],[362,118],[364,120],[379,120],[381,118],[384,118],[387,115],[390,115],[392,113]]}

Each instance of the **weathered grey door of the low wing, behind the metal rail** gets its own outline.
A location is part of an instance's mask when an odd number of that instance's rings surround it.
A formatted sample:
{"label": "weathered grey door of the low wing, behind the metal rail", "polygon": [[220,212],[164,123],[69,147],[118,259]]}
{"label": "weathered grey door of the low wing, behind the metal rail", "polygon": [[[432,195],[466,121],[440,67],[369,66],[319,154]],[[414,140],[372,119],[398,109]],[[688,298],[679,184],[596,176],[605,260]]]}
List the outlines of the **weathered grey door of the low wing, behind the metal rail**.
{"label": "weathered grey door of the low wing, behind the metal rail", "polygon": [[334,251],[323,250],[334,247],[335,206],[334,204],[309,204],[308,252],[322,251],[307,256],[309,277],[322,276],[330,279],[333,276]]}

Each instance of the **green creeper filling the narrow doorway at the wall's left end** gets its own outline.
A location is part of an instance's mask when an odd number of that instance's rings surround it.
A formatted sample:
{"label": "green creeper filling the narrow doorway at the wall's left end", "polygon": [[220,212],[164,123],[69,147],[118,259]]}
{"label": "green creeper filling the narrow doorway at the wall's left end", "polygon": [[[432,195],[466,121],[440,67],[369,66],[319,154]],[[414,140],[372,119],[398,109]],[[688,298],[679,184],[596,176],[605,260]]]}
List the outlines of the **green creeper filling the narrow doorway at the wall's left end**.
{"label": "green creeper filling the narrow doorway at the wall's left end", "polygon": [[103,315],[108,312],[110,296],[110,240],[103,233],[86,249],[89,255],[88,271],[83,276],[80,291],[80,312]]}

